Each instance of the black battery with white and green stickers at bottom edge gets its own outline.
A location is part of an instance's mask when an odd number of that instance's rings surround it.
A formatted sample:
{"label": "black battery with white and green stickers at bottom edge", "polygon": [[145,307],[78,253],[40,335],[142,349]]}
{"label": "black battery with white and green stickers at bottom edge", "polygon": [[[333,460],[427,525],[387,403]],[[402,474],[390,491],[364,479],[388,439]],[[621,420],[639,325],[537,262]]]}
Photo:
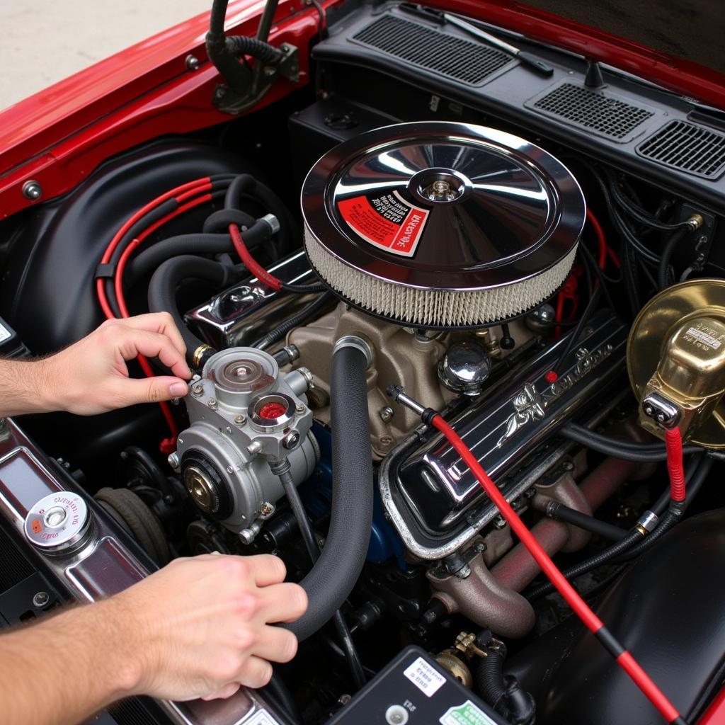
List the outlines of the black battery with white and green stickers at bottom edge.
{"label": "black battery with white and green stickers at bottom edge", "polygon": [[420,647],[407,647],[327,725],[509,725]]}

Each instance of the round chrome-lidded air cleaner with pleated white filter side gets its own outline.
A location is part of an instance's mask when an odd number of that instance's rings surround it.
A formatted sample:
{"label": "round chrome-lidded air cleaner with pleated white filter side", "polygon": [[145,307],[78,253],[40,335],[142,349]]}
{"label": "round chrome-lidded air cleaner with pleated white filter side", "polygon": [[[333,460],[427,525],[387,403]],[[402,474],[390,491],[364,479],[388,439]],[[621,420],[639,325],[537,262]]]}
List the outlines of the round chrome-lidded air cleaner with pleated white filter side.
{"label": "round chrome-lidded air cleaner with pleated white filter side", "polygon": [[568,275],[584,197],[509,133],[439,121],[378,128],[325,154],[302,188],[305,247],[347,302],[423,328],[480,327]]}

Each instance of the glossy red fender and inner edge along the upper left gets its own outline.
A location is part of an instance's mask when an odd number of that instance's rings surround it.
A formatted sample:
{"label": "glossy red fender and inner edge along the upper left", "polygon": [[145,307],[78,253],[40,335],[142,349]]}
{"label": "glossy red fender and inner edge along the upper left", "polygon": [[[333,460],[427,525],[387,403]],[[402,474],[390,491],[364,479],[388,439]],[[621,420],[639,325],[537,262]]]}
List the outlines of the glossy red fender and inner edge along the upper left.
{"label": "glossy red fender and inner edge along the upper left", "polygon": [[[228,32],[254,35],[263,5],[231,4]],[[22,196],[28,179],[41,184],[44,201],[131,146],[228,120],[211,104],[220,79],[206,60],[208,24],[208,13],[198,15],[0,113],[0,219],[32,203]],[[270,40],[299,48],[298,86],[309,82],[309,44],[317,30],[314,7],[280,3]],[[188,54],[202,61],[199,70],[186,69]],[[279,80],[258,107],[295,87]]]}

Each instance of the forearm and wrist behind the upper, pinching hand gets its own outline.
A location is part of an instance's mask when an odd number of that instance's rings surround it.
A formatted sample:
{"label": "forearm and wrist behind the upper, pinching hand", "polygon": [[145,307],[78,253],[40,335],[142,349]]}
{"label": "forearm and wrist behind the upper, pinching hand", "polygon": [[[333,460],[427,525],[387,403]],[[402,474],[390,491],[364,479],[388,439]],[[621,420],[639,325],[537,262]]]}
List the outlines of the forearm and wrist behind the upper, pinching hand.
{"label": "forearm and wrist behind the upper, pinching hand", "polygon": [[50,394],[57,381],[48,360],[0,359],[0,416],[59,410]]}

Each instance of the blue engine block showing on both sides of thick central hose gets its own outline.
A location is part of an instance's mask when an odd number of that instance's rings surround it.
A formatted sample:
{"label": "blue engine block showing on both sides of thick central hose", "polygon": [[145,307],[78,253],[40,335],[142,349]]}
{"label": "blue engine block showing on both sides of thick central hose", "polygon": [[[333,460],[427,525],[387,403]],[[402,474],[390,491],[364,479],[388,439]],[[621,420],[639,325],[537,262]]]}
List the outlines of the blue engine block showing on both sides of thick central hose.
{"label": "blue engine block showing on both sides of thick central hose", "polygon": [[[312,433],[320,444],[320,463],[307,481],[299,486],[299,494],[305,508],[313,517],[323,516],[330,510],[332,500],[332,436],[327,428],[315,423]],[[368,561],[382,564],[392,557],[397,559],[401,569],[405,569],[403,554],[405,547],[396,531],[385,520],[380,493],[375,489],[373,502],[373,527],[370,531]]]}

